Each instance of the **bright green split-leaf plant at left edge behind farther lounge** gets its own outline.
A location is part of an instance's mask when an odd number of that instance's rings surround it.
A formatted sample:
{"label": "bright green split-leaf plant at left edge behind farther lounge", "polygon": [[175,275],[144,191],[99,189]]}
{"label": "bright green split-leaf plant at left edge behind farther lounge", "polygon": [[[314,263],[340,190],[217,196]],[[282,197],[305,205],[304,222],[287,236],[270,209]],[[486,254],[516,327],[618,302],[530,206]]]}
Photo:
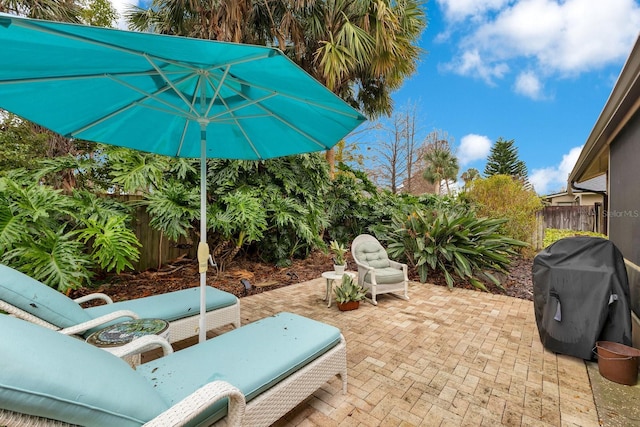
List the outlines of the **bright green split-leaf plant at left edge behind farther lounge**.
{"label": "bright green split-leaf plant at left edge behind farther lounge", "polygon": [[140,244],[130,220],[123,205],[86,191],[0,178],[0,262],[63,292],[89,284],[94,265],[133,268]]}

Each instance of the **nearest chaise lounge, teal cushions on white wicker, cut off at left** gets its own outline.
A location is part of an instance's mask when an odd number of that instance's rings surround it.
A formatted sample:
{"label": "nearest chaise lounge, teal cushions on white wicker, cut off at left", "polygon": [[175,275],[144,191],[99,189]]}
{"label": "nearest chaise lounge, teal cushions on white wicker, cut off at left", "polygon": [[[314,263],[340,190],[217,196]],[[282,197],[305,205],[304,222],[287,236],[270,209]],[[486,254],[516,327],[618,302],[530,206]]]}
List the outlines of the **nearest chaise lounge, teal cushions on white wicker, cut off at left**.
{"label": "nearest chaise lounge, teal cushions on white wicker, cut off at left", "polygon": [[0,425],[268,426],[336,375],[347,387],[340,330],[291,313],[135,370],[81,340],[0,315],[0,360]]}

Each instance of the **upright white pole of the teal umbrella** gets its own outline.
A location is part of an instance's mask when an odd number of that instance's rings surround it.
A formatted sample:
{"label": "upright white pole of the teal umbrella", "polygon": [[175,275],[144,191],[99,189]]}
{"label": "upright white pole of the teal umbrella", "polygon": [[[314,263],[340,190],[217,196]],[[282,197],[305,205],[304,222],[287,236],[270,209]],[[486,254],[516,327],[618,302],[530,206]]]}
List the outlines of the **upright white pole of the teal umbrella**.
{"label": "upright white pole of the teal umbrella", "polygon": [[200,243],[198,244],[198,271],[200,272],[200,331],[198,342],[207,339],[207,125],[200,124]]}

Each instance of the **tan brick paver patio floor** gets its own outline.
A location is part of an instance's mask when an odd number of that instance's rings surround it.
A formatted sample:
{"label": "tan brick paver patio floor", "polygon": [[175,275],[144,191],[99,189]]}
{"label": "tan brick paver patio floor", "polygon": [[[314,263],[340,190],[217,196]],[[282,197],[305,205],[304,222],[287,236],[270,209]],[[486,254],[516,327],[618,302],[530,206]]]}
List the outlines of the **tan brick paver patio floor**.
{"label": "tan brick paver patio floor", "polygon": [[241,299],[243,324],[289,311],[342,330],[335,378],[277,426],[598,426],[585,363],[544,350],[531,301],[411,283],[411,300],[340,312],[311,280]]}

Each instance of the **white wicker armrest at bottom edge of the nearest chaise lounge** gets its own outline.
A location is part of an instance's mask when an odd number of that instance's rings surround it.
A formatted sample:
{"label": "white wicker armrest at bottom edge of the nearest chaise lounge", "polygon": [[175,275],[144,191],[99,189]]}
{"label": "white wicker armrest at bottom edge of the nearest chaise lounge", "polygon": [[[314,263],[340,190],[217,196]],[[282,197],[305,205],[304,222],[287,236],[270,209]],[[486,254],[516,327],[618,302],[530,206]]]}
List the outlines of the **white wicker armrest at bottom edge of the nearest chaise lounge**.
{"label": "white wicker armrest at bottom edge of the nearest chaise lounge", "polygon": [[225,381],[213,381],[203,385],[144,425],[146,427],[183,426],[218,400],[226,397],[229,398],[227,425],[241,426],[246,407],[244,395]]}

